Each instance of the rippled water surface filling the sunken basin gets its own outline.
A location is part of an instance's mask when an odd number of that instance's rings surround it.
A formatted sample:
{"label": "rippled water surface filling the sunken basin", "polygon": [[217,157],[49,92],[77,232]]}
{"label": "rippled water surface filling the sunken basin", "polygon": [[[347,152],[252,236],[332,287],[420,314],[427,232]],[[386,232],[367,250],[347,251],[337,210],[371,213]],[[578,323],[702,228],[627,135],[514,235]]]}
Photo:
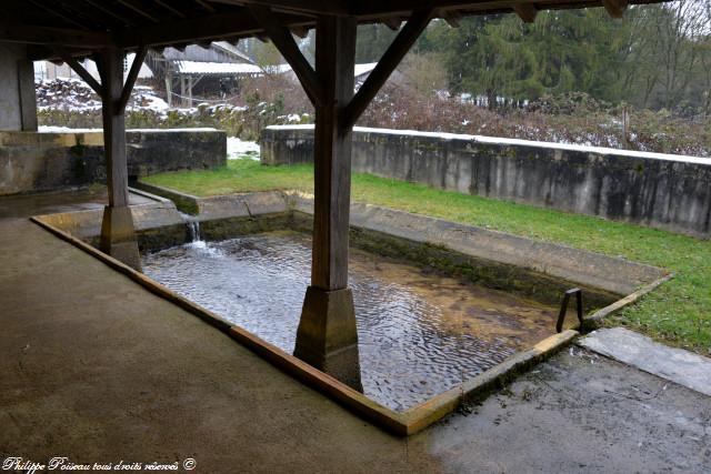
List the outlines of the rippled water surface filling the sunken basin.
{"label": "rippled water surface filling the sunken basin", "polygon": [[[193,242],[143,258],[143,272],[292,353],[310,238],[293,232]],[[553,331],[555,310],[352,250],[365,395],[402,411]]]}

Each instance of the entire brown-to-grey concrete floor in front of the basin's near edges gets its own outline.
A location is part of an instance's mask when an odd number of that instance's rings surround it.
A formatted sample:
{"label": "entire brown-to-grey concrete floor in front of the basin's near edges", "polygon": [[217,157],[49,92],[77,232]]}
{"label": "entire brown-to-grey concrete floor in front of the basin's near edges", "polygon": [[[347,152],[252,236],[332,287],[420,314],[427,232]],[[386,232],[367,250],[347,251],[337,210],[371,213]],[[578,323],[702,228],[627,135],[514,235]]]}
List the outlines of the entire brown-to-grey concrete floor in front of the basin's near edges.
{"label": "entire brown-to-grey concrete floor in front of the basin's near edges", "polygon": [[26,219],[0,218],[0,458],[711,472],[710,397],[579,347],[468,415],[390,436]]}

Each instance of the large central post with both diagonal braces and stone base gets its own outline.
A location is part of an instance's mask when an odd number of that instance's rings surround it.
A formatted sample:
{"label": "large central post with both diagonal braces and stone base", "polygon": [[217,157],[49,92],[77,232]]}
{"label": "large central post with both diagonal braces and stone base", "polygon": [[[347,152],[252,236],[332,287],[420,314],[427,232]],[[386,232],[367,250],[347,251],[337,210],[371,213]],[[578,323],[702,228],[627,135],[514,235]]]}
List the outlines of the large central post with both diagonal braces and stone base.
{"label": "large central post with both diagonal braces and stone base", "polygon": [[249,10],[292,65],[316,109],[314,202],[311,285],[301,311],[294,355],[361,390],[353,296],[348,288],[348,233],[353,123],[432,18],[415,11],[353,97],[353,17],[317,20],[316,71],[291,32],[266,6]]}

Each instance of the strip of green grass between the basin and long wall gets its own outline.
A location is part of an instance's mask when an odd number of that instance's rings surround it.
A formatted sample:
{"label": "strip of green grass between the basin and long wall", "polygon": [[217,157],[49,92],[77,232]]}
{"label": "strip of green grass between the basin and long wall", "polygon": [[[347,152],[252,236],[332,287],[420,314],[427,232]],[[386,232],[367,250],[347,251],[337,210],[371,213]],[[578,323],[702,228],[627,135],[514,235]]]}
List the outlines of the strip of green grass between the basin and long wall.
{"label": "strip of green grass between the basin and long wall", "polygon": [[[311,165],[262,167],[252,160],[231,160],[220,170],[163,173],[144,179],[199,196],[278,189],[311,191],[312,180]],[[674,279],[612,316],[609,323],[711,354],[711,241],[369,174],[353,175],[352,200],[669,269],[675,273]]]}

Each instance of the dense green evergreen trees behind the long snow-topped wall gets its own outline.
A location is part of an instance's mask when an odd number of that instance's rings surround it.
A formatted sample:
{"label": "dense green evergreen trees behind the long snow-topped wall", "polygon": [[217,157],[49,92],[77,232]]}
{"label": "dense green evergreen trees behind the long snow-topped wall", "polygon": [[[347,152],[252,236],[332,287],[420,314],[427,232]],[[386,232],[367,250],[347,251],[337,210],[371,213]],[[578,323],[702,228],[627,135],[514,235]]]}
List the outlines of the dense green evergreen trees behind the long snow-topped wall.
{"label": "dense green evergreen trees behind the long snow-topped wall", "polygon": [[449,30],[440,21],[420,48],[445,54],[454,91],[490,101],[570,91],[613,99],[619,41],[628,31],[604,14],[600,9],[541,12],[532,26],[511,14],[470,17]]}

